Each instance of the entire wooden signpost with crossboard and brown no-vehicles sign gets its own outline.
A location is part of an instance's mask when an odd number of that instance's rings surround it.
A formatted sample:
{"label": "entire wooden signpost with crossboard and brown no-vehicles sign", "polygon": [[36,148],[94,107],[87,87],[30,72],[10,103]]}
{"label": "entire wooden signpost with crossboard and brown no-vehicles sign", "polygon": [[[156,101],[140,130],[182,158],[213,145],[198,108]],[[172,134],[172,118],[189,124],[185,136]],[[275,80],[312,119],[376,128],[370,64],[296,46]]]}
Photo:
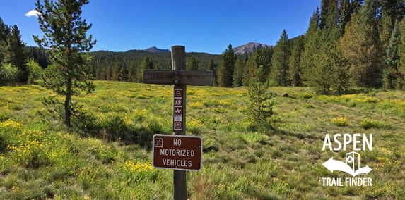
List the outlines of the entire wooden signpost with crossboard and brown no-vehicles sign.
{"label": "entire wooden signpost with crossboard and brown no-vehicles sign", "polygon": [[[168,168],[168,169],[174,169],[177,167],[177,170],[173,170],[173,185],[175,197],[174,199],[186,200],[187,170],[201,170],[202,167],[201,137],[184,137],[186,135],[187,85],[212,85],[213,72],[204,70],[186,70],[185,46],[172,46],[172,70],[144,70],[142,82],[148,84],[174,85],[173,132],[175,132],[175,135],[177,136],[174,135],[172,135],[171,137],[169,135],[153,136],[153,166],[157,168]],[[179,144],[178,139],[180,139],[181,145],[178,145]],[[160,141],[162,141],[163,143],[160,143]],[[183,141],[190,142],[190,144],[187,145],[194,146],[193,147],[194,149],[190,146],[189,147],[182,146],[182,144],[184,144]],[[195,149],[196,146],[199,146],[198,149],[200,149],[201,151]],[[166,150],[162,151],[162,149],[165,149],[165,147],[169,147],[169,149],[171,149],[168,150],[167,152],[168,155],[166,155]],[[184,156],[180,156],[180,150],[182,153],[184,152],[185,157],[190,158],[192,157],[192,159],[194,160],[182,158]],[[189,152],[188,154],[189,156],[187,156],[187,150]],[[192,151],[194,152],[193,156],[191,156]],[[155,152],[157,152],[156,155]],[[197,156],[197,154],[200,154],[201,156],[199,157]],[[173,157],[173,156],[180,156],[180,157]],[[189,161],[191,161],[191,163],[189,163]],[[180,166],[177,164],[179,164]],[[172,166],[174,168],[172,168]]]}

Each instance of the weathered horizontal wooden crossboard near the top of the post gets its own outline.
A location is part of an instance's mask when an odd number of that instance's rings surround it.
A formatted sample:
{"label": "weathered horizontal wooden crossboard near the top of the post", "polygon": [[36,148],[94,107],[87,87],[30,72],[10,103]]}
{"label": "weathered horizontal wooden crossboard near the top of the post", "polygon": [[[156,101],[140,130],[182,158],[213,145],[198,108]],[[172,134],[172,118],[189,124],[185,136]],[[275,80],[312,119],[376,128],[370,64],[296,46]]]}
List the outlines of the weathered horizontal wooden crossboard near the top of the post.
{"label": "weathered horizontal wooden crossboard near the top of the post", "polygon": [[213,72],[204,70],[143,70],[142,82],[169,85],[212,85]]}

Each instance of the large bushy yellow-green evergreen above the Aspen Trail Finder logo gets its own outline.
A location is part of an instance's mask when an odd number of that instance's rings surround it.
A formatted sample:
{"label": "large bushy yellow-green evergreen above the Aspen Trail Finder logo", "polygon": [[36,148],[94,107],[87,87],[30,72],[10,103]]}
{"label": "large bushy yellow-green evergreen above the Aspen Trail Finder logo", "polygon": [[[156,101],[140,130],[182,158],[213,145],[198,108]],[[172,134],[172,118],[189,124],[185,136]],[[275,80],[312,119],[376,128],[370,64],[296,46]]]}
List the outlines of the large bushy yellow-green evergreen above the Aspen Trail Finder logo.
{"label": "large bushy yellow-green evergreen above the Aspen Trail Finder logo", "polygon": [[377,36],[376,4],[366,0],[354,13],[341,38],[341,52],[351,65],[349,75],[353,86],[380,87],[382,55]]}

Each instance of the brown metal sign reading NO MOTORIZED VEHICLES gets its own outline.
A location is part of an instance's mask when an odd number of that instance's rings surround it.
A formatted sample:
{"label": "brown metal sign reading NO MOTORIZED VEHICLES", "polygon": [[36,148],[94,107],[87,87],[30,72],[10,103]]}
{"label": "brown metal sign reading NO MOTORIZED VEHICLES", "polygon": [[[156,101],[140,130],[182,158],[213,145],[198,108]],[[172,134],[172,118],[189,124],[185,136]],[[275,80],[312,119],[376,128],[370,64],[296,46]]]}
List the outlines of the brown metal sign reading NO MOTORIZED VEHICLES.
{"label": "brown metal sign reading NO MOTORIZED VEHICLES", "polygon": [[169,170],[201,170],[201,137],[153,135],[152,165],[154,168]]}

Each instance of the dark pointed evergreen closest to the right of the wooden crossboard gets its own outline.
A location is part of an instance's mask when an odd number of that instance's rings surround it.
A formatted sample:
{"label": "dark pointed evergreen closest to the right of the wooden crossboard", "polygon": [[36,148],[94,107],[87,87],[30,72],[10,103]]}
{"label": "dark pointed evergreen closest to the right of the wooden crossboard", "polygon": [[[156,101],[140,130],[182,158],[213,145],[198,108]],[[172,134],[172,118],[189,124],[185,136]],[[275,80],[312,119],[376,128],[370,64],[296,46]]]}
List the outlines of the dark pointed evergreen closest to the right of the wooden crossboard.
{"label": "dark pointed evergreen closest to the right of the wooden crossboard", "polygon": [[218,68],[218,85],[221,87],[232,87],[236,56],[233,53],[231,44],[229,44],[227,50],[223,51],[221,59],[221,65]]}

